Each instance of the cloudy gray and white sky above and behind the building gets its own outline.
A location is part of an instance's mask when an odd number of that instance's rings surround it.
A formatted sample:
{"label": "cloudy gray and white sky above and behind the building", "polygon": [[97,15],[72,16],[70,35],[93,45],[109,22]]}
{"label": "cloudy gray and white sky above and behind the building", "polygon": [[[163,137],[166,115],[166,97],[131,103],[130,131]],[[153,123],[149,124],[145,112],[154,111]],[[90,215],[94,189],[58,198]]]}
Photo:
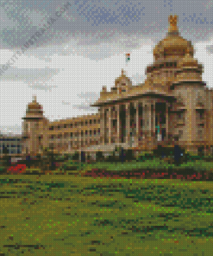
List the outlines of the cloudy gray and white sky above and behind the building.
{"label": "cloudy gray and white sky above and behind the building", "polygon": [[97,113],[90,105],[122,68],[133,85],[144,82],[170,15],[213,87],[212,12],[209,0],[1,0],[0,131],[22,133],[33,95],[54,121]]}

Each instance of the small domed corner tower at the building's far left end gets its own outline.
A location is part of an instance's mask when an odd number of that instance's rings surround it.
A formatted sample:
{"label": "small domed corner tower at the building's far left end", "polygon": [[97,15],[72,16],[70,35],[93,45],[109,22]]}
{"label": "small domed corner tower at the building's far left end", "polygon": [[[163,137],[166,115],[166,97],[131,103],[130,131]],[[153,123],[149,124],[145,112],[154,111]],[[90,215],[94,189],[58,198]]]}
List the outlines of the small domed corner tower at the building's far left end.
{"label": "small domed corner tower at the building's far left end", "polygon": [[48,126],[48,120],[43,116],[42,106],[36,101],[36,96],[28,104],[26,117],[22,119],[23,154],[34,156],[43,147],[47,147]]}

